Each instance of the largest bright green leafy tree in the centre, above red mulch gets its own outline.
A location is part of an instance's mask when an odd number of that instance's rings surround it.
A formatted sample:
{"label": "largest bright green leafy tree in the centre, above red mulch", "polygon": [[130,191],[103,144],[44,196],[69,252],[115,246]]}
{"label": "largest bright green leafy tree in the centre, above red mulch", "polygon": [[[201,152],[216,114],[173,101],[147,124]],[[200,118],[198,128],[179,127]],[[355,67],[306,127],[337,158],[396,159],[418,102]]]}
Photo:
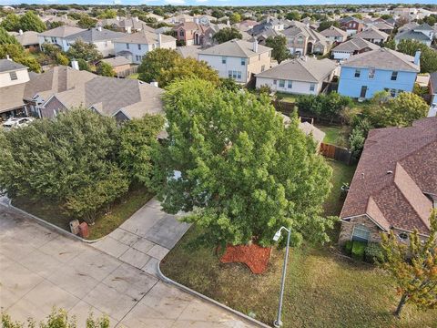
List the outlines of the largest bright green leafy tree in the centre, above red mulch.
{"label": "largest bright green leafy tree in the centre, above red mulch", "polygon": [[282,225],[294,244],[329,240],[321,204],[331,169],[297,118],[286,128],[269,97],[198,78],[169,86],[165,110],[158,195],[164,210],[190,212],[199,243],[269,246]]}

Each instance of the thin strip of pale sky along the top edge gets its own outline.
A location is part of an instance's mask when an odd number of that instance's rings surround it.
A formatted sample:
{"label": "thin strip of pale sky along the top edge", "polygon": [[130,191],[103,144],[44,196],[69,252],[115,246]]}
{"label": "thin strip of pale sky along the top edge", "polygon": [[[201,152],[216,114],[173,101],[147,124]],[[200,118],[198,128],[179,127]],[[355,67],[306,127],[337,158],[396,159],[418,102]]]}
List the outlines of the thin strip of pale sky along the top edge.
{"label": "thin strip of pale sky along the top edge", "polygon": [[0,0],[0,5],[16,4],[86,5],[344,5],[344,4],[435,4],[437,0]]}

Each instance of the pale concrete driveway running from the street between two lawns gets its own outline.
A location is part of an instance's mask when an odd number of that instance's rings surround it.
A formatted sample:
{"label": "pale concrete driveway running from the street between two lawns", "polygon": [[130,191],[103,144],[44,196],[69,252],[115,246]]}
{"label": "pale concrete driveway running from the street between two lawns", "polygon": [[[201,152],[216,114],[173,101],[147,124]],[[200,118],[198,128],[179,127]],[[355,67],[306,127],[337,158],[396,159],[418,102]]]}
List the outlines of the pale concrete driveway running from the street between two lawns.
{"label": "pale concrete driveway running from the street between two lawns", "polygon": [[160,210],[158,200],[152,199],[119,228],[92,246],[156,275],[158,262],[175,247],[188,228],[189,224]]}

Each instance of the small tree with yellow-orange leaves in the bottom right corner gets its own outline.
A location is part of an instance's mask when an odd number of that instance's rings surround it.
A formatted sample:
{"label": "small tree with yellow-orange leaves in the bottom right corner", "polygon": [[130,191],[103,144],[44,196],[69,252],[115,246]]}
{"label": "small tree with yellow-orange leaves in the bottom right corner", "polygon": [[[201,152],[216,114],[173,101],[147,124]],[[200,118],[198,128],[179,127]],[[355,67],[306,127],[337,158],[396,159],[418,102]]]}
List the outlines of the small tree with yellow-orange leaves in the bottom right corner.
{"label": "small tree with yellow-orange leaves in the bottom right corner", "polygon": [[422,309],[437,308],[437,218],[430,218],[430,236],[422,241],[417,230],[410,233],[407,245],[391,231],[383,234],[381,246],[385,253],[382,268],[394,278],[401,300],[395,314],[412,303]]}

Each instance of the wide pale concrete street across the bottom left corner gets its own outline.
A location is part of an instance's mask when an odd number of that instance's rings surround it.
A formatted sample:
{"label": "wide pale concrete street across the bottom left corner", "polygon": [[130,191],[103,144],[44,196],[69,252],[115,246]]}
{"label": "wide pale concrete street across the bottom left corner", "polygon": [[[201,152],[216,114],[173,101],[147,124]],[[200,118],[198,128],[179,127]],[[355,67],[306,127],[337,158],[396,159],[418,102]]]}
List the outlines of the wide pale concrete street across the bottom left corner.
{"label": "wide pale concrete street across the bottom left corner", "polygon": [[[133,229],[135,222],[130,224],[125,228]],[[154,231],[150,229],[147,231]],[[0,204],[0,307],[23,322],[29,316],[42,320],[53,306],[62,307],[76,315],[78,327],[85,326],[89,312],[95,316],[107,313],[112,326],[127,328],[250,326],[234,314],[137,269],[128,263],[129,256],[123,259],[127,251],[136,250],[135,245],[147,244],[143,233],[136,234],[135,242],[113,237],[127,246],[119,251],[120,259],[48,230]],[[161,241],[150,242],[154,245],[145,252],[147,261],[158,261],[158,255],[148,251]],[[113,250],[117,250],[114,245]]]}

